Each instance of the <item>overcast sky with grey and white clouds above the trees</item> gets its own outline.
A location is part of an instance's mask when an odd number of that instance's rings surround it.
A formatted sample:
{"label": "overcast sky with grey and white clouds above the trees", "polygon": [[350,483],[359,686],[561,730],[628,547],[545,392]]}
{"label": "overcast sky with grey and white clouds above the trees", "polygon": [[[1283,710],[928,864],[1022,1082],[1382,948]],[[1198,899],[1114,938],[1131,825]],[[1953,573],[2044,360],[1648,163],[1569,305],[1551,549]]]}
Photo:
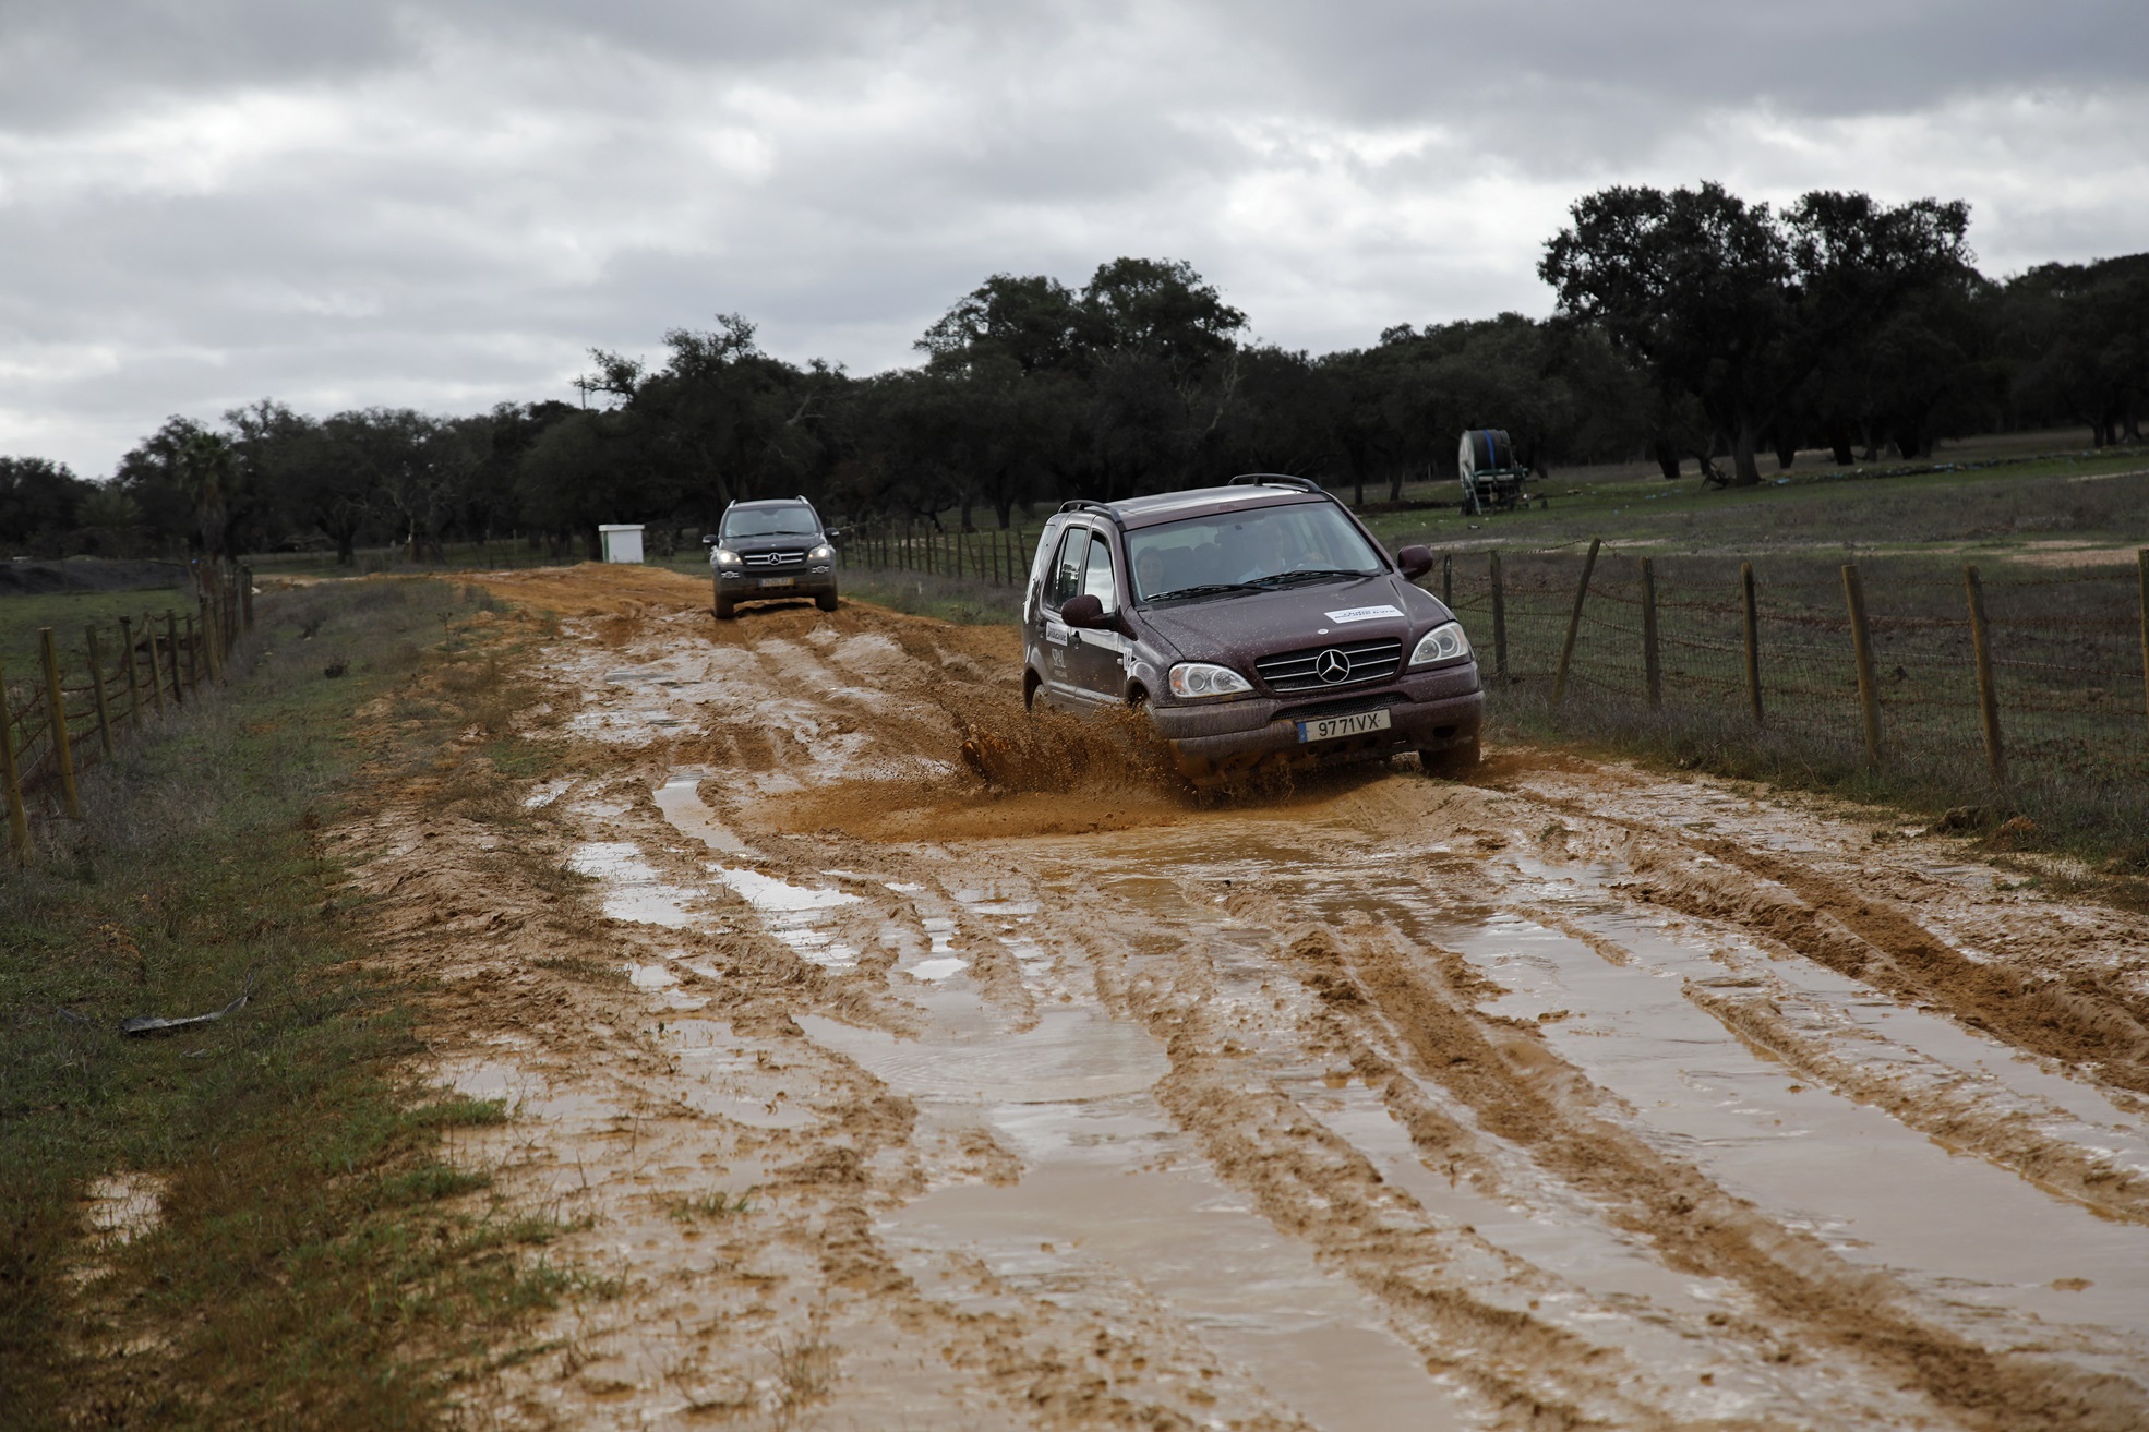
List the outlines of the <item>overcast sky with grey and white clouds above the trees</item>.
{"label": "overcast sky with grey and white clouds above the trees", "polygon": [[1545,314],[1607,183],[2149,249],[2145,0],[0,0],[0,454],[574,398],[741,312],[855,374],[995,271],[1184,258],[1292,348]]}

